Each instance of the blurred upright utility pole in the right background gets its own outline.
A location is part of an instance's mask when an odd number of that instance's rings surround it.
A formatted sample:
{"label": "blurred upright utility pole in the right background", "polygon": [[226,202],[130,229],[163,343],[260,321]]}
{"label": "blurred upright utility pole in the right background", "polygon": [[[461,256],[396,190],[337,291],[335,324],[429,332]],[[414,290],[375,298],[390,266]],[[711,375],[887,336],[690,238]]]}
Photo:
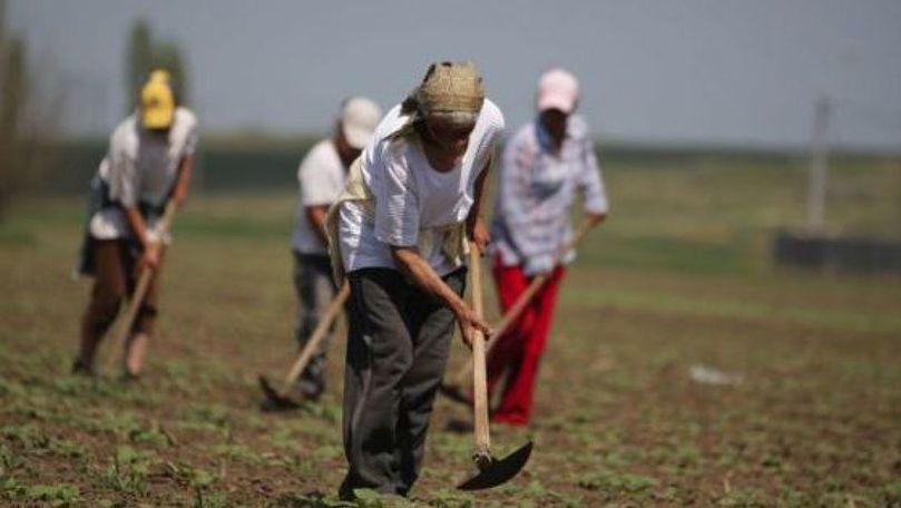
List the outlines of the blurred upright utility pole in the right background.
{"label": "blurred upright utility pole in the right background", "polygon": [[826,184],[829,178],[829,124],[832,101],[826,96],[816,99],[811,140],[811,165],[807,176],[807,233],[822,233],[826,217]]}

